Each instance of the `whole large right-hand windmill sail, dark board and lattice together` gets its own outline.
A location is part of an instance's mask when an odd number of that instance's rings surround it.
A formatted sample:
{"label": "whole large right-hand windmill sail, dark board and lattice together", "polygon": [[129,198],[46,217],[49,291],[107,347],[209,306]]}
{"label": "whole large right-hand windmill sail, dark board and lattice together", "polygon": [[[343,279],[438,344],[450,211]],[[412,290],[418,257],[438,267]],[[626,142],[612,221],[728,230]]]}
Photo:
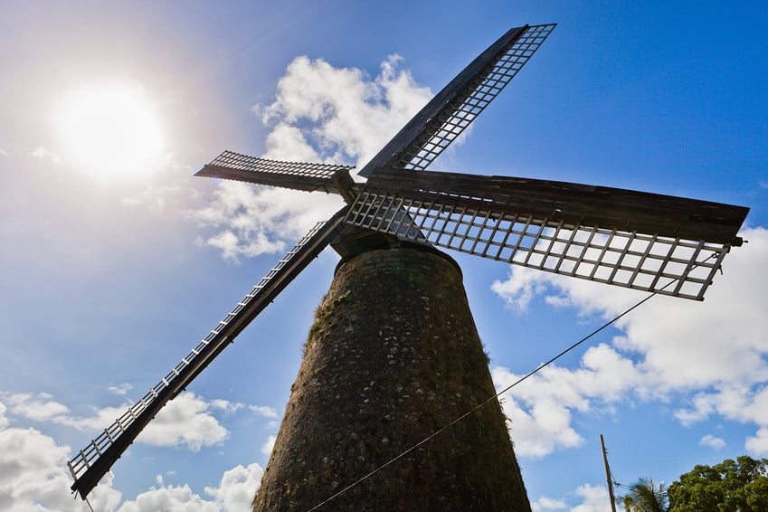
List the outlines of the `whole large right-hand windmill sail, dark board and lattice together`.
{"label": "whole large right-hand windmill sail, dark board and lattice together", "polygon": [[[399,214],[402,211],[407,216]],[[504,176],[382,170],[346,223],[605,284],[704,299],[748,208]],[[415,228],[415,229],[413,229]]]}

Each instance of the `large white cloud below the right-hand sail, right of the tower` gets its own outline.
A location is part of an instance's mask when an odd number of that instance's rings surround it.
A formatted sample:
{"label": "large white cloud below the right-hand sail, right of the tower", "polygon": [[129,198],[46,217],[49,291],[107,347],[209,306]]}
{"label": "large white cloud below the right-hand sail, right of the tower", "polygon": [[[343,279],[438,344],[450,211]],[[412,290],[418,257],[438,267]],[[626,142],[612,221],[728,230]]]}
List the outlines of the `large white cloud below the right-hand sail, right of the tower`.
{"label": "large white cloud below the right-hand sail, right of the tower", "polygon": [[[749,243],[725,259],[724,275],[705,302],[649,300],[616,324],[623,336],[614,338],[613,346],[591,348],[580,368],[553,366],[516,387],[505,411],[518,446],[527,445],[520,454],[543,456],[558,447],[578,446],[572,411],[631,396],[667,400],[688,393],[693,393],[689,406],[675,412],[680,422],[688,425],[718,414],[754,423],[757,431],[745,447],[758,456],[768,454],[768,230],[748,229],[742,236]],[[602,318],[613,318],[644,297],[518,267],[494,290],[507,303],[523,306],[533,293],[546,293],[551,303]],[[493,375],[498,388],[517,378],[505,368],[494,369]]]}

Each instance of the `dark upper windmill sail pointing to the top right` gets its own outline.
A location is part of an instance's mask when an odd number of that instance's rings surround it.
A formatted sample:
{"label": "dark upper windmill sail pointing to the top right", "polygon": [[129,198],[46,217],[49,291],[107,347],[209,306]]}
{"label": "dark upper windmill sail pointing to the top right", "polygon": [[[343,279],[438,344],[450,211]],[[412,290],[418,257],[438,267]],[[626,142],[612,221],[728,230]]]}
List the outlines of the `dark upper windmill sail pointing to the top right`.
{"label": "dark upper windmill sail pointing to the top right", "polygon": [[555,24],[545,24],[509,30],[435,95],[359,175],[369,177],[387,166],[429,166],[515,78],[554,29]]}

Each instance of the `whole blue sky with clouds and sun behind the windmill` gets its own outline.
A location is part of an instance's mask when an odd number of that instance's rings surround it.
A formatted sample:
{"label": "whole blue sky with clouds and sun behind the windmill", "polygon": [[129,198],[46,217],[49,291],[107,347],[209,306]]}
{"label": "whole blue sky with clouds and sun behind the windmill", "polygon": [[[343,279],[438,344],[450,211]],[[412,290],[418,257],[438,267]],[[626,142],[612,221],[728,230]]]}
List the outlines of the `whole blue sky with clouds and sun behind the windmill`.
{"label": "whole blue sky with clouds and sun behind the windmill", "polygon": [[[549,40],[432,168],[752,210],[749,243],[703,303],[651,299],[503,397],[532,503],[608,509],[601,433],[625,484],[768,457],[764,5],[11,2],[0,19],[3,507],[86,510],[66,460],[337,204],[194,172],[225,148],[361,166],[498,35],[545,23],[558,24]],[[84,88],[105,100],[78,103]],[[499,386],[643,298],[454,256]],[[166,407],[94,506],[250,500],[336,263],[324,252]]]}

